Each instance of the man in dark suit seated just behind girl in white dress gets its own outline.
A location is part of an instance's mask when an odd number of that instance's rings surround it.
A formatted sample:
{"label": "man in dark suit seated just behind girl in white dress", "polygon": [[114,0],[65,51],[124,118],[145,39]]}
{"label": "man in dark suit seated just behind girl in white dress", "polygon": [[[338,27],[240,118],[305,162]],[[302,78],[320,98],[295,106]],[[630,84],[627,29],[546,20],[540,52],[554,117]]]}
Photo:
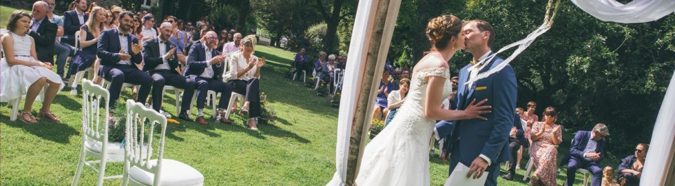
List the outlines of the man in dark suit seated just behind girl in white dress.
{"label": "man in dark suit seated just behind girl in white dress", "polygon": [[54,41],[58,27],[47,18],[48,11],[48,4],[45,1],[33,3],[33,19],[28,35],[35,41],[37,59],[54,65]]}

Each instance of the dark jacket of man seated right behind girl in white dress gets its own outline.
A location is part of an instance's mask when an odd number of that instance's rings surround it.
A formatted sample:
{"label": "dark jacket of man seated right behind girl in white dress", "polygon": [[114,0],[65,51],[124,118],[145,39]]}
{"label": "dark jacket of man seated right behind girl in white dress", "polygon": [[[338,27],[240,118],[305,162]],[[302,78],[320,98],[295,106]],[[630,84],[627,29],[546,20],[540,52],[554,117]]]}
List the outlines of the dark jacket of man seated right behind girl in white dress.
{"label": "dark jacket of man seated right behind girl in white dress", "polygon": [[49,21],[49,19],[45,17],[41,20],[37,32],[33,30],[28,32],[28,35],[35,40],[35,52],[37,52],[37,59],[39,61],[54,63],[56,28],[56,23],[52,23],[52,21]]}

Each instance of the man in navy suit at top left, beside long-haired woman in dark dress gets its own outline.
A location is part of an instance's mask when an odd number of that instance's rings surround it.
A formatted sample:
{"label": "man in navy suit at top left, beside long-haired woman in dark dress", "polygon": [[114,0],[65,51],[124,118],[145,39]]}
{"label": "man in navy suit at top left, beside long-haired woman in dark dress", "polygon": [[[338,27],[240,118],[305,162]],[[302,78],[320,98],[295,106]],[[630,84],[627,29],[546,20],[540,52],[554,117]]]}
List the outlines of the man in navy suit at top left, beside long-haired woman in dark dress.
{"label": "man in navy suit at top left, beside long-haired woman in dark dress", "polygon": [[75,45],[75,32],[89,19],[87,0],[75,0],[75,10],[63,12],[63,37],[61,42],[71,46]]}

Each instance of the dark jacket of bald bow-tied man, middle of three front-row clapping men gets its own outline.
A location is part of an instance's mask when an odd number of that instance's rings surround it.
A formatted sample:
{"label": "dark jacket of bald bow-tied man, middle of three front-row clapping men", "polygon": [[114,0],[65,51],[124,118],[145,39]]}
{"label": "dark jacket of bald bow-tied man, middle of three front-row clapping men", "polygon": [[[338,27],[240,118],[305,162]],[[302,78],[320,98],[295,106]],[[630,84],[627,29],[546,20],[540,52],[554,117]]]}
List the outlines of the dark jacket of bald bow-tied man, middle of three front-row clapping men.
{"label": "dark jacket of bald bow-tied man, middle of three front-row clapping men", "polygon": [[[143,42],[143,61],[145,62],[145,65],[143,65],[143,71],[152,74],[157,65],[164,63],[162,60],[163,55],[159,52],[159,45],[159,38],[157,37]],[[163,43],[163,45],[166,46],[166,52],[169,52],[171,48],[176,48],[176,44],[168,40],[166,43]],[[178,50],[174,52],[174,59],[168,61],[169,71],[173,72],[174,74],[178,74],[178,72],[176,72],[176,68],[178,67],[177,54]]]}

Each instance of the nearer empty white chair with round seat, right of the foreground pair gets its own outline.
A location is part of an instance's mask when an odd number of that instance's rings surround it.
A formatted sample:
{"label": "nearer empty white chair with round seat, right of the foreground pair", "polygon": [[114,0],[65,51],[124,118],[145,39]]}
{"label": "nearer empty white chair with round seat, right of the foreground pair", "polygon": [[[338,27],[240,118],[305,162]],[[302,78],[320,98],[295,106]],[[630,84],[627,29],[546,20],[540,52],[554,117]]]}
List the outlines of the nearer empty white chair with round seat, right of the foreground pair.
{"label": "nearer empty white chair with round seat, right of the foreground pair", "polygon": [[[180,161],[164,158],[167,118],[133,100],[127,100],[126,106],[122,185],[203,185],[204,175],[199,171]],[[156,125],[160,125],[161,134],[156,159],[152,159]]]}

